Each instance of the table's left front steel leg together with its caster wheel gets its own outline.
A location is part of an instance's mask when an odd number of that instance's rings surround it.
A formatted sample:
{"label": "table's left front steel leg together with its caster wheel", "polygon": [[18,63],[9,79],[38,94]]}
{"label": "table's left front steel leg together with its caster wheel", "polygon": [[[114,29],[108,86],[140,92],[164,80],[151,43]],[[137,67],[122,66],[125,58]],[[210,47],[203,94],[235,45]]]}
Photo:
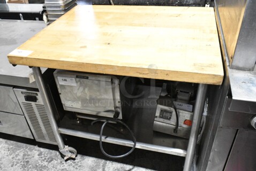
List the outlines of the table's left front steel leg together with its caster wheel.
{"label": "table's left front steel leg together with its caster wheel", "polygon": [[77,155],[77,151],[72,147],[65,146],[61,134],[58,131],[58,125],[54,118],[54,110],[52,110],[53,106],[50,103],[49,94],[47,93],[46,84],[43,81],[41,69],[40,67],[33,67],[32,71],[35,77],[37,87],[39,88],[43,104],[46,107],[47,115],[50,121],[50,125],[52,127],[52,131],[54,132],[59,151],[64,155],[65,160],[68,158],[75,158]]}

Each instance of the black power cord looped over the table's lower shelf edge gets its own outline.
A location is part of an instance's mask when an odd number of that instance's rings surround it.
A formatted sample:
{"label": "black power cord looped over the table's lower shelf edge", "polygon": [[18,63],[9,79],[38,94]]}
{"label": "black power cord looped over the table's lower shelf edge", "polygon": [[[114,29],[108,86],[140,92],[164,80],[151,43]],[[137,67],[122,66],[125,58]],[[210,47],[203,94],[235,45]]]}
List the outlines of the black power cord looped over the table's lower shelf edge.
{"label": "black power cord looped over the table's lower shelf edge", "polygon": [[[92,121],[91,125],[93,125],[95,122],[99,122],[99,121],[103,121],[103,120],[106,120],[106,121],[103,123],[103,125],[102,125],[102,127],[101,127],[101,132],[100,132],[100,149],[101,149],[101,152],[102,152],[105,156],[107,156],[107,157],[109,157],[109,158],[112,158],[112,159],[123,158],[123,157],[126,157],[126,156],[128,156],[129,154],[131,154],[131,153],[133,152],[133,150],[135,149],[135,146],[136,146],[136,138],[135,138],[135,136],[133,135],[132,130],[131,130],[123,121],[118,120],[118,119],[114,119],[114,118],[100,118],[100,119],[96,119],[96,120]],[[104,151],[104,149],[103,149],[103,146],[102,146],[102,134],[103,134],[103,129],[104,129],[104,127],[107,125],[107,123],[108,123],[108,122],[111,122],[111,121],[112,121],[112,122],[118,122],[118,123],[121,123],[122,125],[124,125],[124,126],[129,130],[129,132],[130,132],[130,134],[131,134],[131,136],[132,136],[132,139],[133,139],[133,147],[132,147],[132,149],[131,149],[129,152],[127,152],[127,153],[125,153],[125,154],[122,154],[122,155],[120,155],[120,156],[112,156],[112,155],[106,153],[106,152]]]}

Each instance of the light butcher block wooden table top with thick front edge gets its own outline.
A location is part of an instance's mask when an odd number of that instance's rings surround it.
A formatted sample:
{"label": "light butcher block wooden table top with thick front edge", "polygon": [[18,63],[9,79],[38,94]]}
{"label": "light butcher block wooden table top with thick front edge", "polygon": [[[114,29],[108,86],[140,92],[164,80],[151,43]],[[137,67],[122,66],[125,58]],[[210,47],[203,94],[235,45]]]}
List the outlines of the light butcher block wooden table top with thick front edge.
{"label": "light butcher block wooden table top with thick front edge", "polygon": [[8,55],[11,64],[221,84],[212,7],[76,6]]}

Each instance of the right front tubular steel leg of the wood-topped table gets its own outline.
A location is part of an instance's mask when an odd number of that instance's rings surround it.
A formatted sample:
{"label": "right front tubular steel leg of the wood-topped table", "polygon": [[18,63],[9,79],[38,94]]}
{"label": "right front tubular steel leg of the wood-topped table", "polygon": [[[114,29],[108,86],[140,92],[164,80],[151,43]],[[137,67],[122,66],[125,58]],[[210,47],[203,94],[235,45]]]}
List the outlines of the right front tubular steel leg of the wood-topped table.
{"label": "right front tubular steel leg of the wood-topped table", "polygon": [[189,146],[187,146],[187,153],[183,171],[190,171],[192,161],[194,158],[195,145],[197,145],[197,137],[199,133],[202,112],[204,110],[206,98],[207,84],[199,84],[197,91],[197,100],[195,101],[193,124],[190,133]]}

